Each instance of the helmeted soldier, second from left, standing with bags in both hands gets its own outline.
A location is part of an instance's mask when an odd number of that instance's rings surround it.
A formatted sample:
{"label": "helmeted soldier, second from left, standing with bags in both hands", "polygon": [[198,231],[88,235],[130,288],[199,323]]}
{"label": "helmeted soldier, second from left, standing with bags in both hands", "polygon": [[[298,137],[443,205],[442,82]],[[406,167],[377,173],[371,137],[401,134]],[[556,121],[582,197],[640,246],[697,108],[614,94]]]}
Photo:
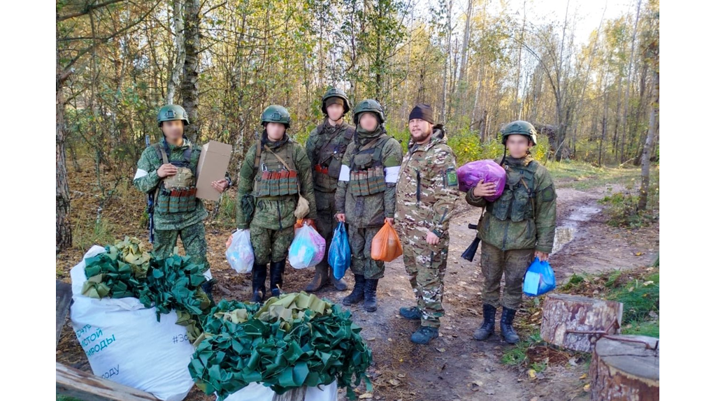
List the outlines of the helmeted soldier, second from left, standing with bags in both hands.
{"label": "helmeted soldier, second from left, standing with bags in both hands", "polygon": [[316,219],[311,160],[286,134],[291,127],[289,111],[269,106],[261,114],[261,124],[261,139],[248,148],[243,159],[236,197],[236,227],[249,230],[253,247],[251,302],[263,302],[266,297],[269,262],[271,296],[281,294],[299,193],[309,202],[304,221],[311,224]]}

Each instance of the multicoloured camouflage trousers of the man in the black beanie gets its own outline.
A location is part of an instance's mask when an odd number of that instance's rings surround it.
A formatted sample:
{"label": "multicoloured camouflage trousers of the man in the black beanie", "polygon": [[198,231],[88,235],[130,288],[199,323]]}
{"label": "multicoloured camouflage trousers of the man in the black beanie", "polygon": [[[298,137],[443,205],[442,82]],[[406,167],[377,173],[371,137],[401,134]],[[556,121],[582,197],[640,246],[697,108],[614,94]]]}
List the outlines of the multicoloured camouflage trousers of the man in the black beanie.
{"label": "multicoloured camouflage trousers of the man in the black beanie", "polygon": [[448,247],[437,249],[437,252],[427,246],[403,247],[403,262],[417,298],[417,308],[422,313],[421,325],[439,328],[440,317],[445,312],[442,294],[448,268]]}

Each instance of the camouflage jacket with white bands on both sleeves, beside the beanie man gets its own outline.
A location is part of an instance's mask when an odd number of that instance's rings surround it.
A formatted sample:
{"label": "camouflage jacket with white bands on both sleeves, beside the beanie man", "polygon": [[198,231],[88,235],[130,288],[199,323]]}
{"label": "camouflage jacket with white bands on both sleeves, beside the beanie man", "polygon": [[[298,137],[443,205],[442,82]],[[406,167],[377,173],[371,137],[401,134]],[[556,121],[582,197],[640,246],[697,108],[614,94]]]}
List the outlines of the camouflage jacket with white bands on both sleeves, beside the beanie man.
{"label": "camouflage jacket with white bands on both sleeves, beside the beanie man", "polygon": [[[382,129],[384,132],[384,129]],[[380,227],[386,217],[395,216],[395,183],[402,162],[402,147],[394,138],[388,138],[382,144],[381,160],[386,189],[377,194],[359,196],[349,190],[349,174],[354,154],[367,144],[351,142],[343,155],[341,175],[336,190],[336,212],[346,214],[346,222],[355,227]]]}

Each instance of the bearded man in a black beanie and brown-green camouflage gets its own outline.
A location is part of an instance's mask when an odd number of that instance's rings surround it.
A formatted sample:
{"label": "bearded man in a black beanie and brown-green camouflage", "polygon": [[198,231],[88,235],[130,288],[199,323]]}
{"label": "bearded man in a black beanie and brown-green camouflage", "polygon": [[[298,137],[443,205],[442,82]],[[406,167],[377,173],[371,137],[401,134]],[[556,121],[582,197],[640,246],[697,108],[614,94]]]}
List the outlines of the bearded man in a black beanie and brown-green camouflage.
{"label": "bearded man in a black beanie and brown-green camouflage", "polygon": [[433,125],[432,109],[418,104],[410,112],[408,154],[400,167],[395,223],[403,242],[403,261],[417,307],[400,315],[421,321],[410,337],[427,344],[437,337],[443,314],[443,277],[448,266],[448,228],[460,196],[455,153],[442,125]]}

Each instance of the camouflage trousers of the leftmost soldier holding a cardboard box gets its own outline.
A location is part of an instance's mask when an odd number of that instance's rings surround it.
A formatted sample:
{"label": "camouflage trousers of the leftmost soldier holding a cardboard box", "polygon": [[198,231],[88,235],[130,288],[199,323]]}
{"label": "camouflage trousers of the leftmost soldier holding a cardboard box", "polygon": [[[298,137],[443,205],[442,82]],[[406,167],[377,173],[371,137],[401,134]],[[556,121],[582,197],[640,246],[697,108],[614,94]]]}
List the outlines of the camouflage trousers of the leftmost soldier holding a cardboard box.
{"label": "camouflage trousers of the leftmost soldier holding a cardboard box", "polygon": [[192,262],[204,264],[206,268],[204,275],[211,279],[209,262],[206,259],[206,232],[204,222],[191,224],[183,229],[155,229],[154,242],[152,244],[155,258],[164,259],[174,253],[177,246],[177,239],[181,237],[184,245],[184,252],[191,257]]}

